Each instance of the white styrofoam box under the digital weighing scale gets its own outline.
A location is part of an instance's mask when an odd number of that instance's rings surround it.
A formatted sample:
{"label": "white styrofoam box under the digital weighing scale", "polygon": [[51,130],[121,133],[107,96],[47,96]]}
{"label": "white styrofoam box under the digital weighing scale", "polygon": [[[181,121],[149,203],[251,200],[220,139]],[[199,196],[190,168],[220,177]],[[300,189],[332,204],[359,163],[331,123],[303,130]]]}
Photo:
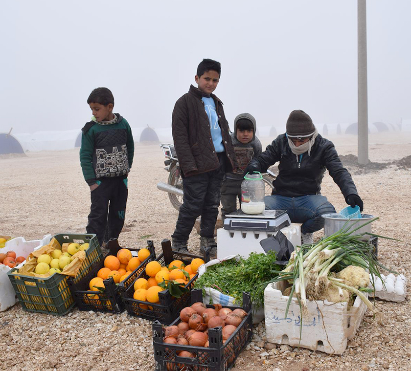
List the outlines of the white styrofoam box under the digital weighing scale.
{"label": "white styrofoam box under the digital weighing scale", "polygon": [[[285,235],[294,248],[301,245],[300,225],[291,223],[291,225],[281,228],[280,231]],[[251,251],[264,253],[260,241],[277,232],[260,232],[260,231],[228,231],[224,228],[217,229],[217,258],[223,259],[228,255],[241,255],[247,258]]]}

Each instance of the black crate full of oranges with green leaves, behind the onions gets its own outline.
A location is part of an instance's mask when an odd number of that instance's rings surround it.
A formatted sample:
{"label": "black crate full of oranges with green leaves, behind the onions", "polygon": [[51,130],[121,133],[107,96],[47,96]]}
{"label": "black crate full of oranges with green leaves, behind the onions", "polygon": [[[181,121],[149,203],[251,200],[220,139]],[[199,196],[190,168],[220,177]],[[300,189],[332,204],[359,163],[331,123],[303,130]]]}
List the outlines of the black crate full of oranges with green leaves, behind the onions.
{"label": "black crate full of oranges with green leaves, behind the onions", "polygon": [[[209,254],[207,251],[205,257],[200,257],[174,251],[170,240],[163,240],[161,247],[163,252],[155,261],[149,262],[140,274],[134,272],[129,277],[134,284],[128,285],[126,281],[119,288],[130,315],[170,324],[190,302],[198,268],[209,261]],[[172,296],[169,289],[159,286],[170,281],[184,288],[181,296]]]}

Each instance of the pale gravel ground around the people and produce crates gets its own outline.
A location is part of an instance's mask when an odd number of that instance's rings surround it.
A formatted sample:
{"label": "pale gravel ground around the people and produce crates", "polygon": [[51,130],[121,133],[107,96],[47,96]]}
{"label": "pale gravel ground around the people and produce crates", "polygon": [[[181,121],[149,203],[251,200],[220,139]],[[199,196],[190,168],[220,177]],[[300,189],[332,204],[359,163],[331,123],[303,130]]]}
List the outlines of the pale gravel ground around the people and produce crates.
{"label": "pale gravel ground around the people and produce crates", "polygon": [[[355,155],[356,137],[330,138],[342,155]],[[262,139],[263,144],[269,140]],[[343,157],[365,203],[365,212],[380,217],[374,231],[402,242],[379,240],[380,261],[403,273],[411,282],[409,161],[411,134],[371,134],[369,157],[373,166],[358,167]],[[126,223],[120,244],[143,247],[170,238],[177,211],[156,188],[166,181],[158,145],[137,145],[129,176]],[[375,166],[375,163],[390,163]],[[78,150],[27,153],[0,158],[2,196],[0,235],[38,239],[46,233],[84,233],[90,196],[83,181]],[[322,193],[342,209],[346,205],[338,187],[326,175]],[[316,238],[322,232],[316,233]],[[198,253],[199,236],[190,236]],[[410,291],[410,284],[408,284]],[[341,356],[275,346],[267,343],[264,322],[255,329],[252,343],[241,353],[233,370],[411,370],[411,309],[409,301],[377,301],[384,325],[367,312],[355,338]],[[0,312],[0,369],[2,370],[154,370],[150,322],[123,312],[119,315],[81,312],[64,317],[25,312],[21,306]]]}

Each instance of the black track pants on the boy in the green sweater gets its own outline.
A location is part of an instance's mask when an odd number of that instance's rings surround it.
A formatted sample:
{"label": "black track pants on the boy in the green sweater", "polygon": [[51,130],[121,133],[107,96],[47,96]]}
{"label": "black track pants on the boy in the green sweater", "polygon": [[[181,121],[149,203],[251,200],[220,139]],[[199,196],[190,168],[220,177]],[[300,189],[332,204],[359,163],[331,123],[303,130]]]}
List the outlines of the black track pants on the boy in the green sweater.
{"label": "black track pants on the boy in the green sweater", "polygon": [[97,235],[100,246],[118,238],[124,225],[127,204],[127,178],[108,178],[91,192],[91,210],[87,233]]}

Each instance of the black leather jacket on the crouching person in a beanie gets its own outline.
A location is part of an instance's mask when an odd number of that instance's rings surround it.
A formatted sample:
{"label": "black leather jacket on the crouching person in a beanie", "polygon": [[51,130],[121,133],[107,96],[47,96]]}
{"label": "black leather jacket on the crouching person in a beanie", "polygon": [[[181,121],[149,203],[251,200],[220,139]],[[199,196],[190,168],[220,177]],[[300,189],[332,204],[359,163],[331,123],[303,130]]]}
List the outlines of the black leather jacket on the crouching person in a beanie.
{"label": "black leather jacket on the crouching person in a beanie", "polygon": [[250,165],[261,172],[279,161],[279,174],[274,180],[273,195],[299,197],[318,195],[325,169],[340,187],[345,200],[348,195],[358,195],[357,188],[334,147],[334,144],[320,134],[317,136],[310,155],[303,153],[297,157],[291,152],[285,134],[280,134],[267,146],[266,150],[254,157]]}

